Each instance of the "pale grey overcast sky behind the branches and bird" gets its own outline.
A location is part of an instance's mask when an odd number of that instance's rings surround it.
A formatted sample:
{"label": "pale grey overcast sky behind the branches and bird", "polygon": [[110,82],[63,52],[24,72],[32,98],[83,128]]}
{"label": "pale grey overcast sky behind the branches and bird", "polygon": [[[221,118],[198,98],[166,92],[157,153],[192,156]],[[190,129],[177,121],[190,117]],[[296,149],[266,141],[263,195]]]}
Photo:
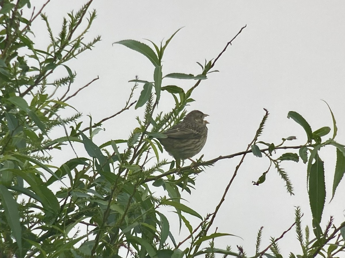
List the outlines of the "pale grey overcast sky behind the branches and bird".
{"label": "pale grey overcast sky behind the branches and bird", "polygon": [[[39,8],[43,2],[33,1],[32,4],[37,3]],[[56,35],[66,13],[77,10],[85,2],[51,0],[45,12]],[[245,150],[264,115],[263,108],[268,109],[270,116],[260,140],[277,145],[282,138],[296,136],[297,140],[286,145],[304,144],[307,139],[304,130],[292,119],[287,119],[287,113],[293,110],[301,114],[313,131],[323,126],[333,128],[329,110],[321,99],[327,101],[334,112],[339,129],[336,140],[345,143],[344,1],[95,0],[91,8],[97,10],[98,17],[87,37],[91,40],[101,35],[102,41],[92,51],[68,63],[78,74],[73,84],[75,90],[97,76],[100,78],[69,103],[83,112],[84,121],[88,114],[96,122],[122,109],[133,86],[128,80],[135,75],[153,80],[154,67],[149,60],[125,46],[112,46],[112,43],[133,39],[150,45],[144,40],[150,39],[159,44],[184,26],[165,51],[163,74],[199,74],[201,68],[196,62],[204,63],[205,58],[217,57],[240,28],[247,25],[217,61],[214,68],[220,73],[211,73],[200,83],[192,95],[196,101],[187,107],[188,111],[198,109],[209,115],[208,140],[199,156],[205,154],[204,159],[208,160]],[[32,30],[36,35],[36,47],[45,48],[49,41],[44,23],[37,19]],[[184,89],[194,83],[191,80],[163,80],[163,86],[175,84]],[[140,91],[139,87],[135,97]],[[169,111],[173,107],[172,97],[162,93],[157,111]],[[142,117],[143,113],[144,108],[131,109],[105,122],[103,128],[106,130],[94,141],[101,144],[128,137],[138,126],[135,117]],[[78,150],[83,152],[82,147]],[[60,164],[73,157],[68,151],[56,153],[59,159],[55,162]],[[166,153],[163,157],[171,159]],[[335,198],[328,204],[332,196],[335,148],[323,148],[320,157],[326,170],[324,229],[330,215],[335,216],[336,226],[344,220],[345,183],[341,182]],[[191,195],[183,195],[189,202],[186,204],[202,216],[214,212],[238,162],[239,158],[219,161],[199,174],[196,190]],[[263,249],[270,236],[279,237],[293,224],[294,206],[302,208],[303,227],[312,228],[306,165],[302,161],[282,162],[293,183],[295,196],[286,192],[283,180],[274,169],[267,174],[264,184],[253,186],[252,181],[256,181],[268,165],[265,158],[247,155],[212,229],[214,232],[218,227],[217,232],[238,235],[244,240],[223,237],[216,240],[216,247],[231,245],[233,251],[237,251],[236,245],[242,245],[248,255],[254,255],[259,228],[264,226]],[[162,194],[159,189],[153,188],[153,191]],[[176,219],[172,212],[168,216]],[[193,226],[198,224],[199,221],[193,221]],[[174,233],[177,241],[187,236],[186,230],[180,236],[177,230]],[[294,229],[279,241],[279,246],[285,256],[290,251],[301,252]]]}

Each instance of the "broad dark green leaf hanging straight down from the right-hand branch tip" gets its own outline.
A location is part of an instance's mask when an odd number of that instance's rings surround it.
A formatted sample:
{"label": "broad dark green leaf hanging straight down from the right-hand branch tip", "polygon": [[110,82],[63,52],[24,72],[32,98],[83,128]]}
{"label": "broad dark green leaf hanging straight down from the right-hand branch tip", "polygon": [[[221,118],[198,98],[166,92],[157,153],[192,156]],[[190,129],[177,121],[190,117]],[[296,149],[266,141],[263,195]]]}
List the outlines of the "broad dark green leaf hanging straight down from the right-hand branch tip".
{"label": "broad dark green leaf hanging straight down from the right-hand branch tip", "polygon": [[323,164],[323,161],[317,155],[314,164],[311,165],[309,175],[309,202],[313,218],[318,224],[321,223],[326,199],[325,171]]}

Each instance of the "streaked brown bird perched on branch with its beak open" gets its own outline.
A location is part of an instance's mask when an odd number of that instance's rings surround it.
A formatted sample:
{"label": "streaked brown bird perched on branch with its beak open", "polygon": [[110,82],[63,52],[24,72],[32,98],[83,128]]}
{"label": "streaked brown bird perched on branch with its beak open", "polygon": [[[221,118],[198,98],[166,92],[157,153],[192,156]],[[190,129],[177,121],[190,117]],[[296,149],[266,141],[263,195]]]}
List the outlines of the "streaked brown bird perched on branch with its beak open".
{"label": "streaked brown bird perched on branch with its beak open", "polygon": [[167,138],[159,138],[164,149],[178,159],[190,159],[203,149],[207,139],[208,116],[199,110],[191,111],[180,123],[163,132]]}

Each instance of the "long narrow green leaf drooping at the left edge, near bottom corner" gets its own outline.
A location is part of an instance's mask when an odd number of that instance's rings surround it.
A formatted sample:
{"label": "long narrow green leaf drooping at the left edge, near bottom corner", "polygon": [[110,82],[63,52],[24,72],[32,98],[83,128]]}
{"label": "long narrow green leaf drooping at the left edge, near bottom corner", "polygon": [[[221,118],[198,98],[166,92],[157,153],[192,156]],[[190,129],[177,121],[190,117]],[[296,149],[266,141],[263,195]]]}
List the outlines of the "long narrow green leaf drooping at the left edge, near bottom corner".
{"label": "long narrow green leaf drooping at the left edge, near bottom corner", "polygon": [[22,231],[20,226],[18,203],[14,200],[11,192],[6,186],[0,185],[1,204],[5,213],[7,223],[9,224],[12,235],[17,241],[20,253],[22,252]]}

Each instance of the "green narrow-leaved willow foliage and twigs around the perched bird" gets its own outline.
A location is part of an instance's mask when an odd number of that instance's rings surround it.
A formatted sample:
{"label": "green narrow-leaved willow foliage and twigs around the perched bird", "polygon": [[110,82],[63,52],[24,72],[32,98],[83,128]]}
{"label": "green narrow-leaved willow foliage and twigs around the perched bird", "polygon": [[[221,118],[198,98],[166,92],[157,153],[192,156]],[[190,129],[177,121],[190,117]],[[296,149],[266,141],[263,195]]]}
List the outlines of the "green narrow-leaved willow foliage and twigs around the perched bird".
{"label": "green narrow-leaved willow foliage and twigs around the perched bird", "polygon": [[[237,246],[236,252],[231,251],[230,246],[225,249],[215,247],[216,237],[231,235],[209,232],[223,201],[219,202],[213,214],[205,217],[180,201],[181,191],[191,193],[195,175],[207,166],[214,165],[220,159],[242,156],[224,192],[225,196],[239,166],[250,152],[270,161],[267,171],[253,183],[263,184],[270,168],[274,167],[286,183],[289,194],[294,194],[293,186],[282,164],[286,161],[298,162],[299,159],[307,164],[307,186],[315,238],[309,240],[308,227],[303,234],[302,213],[297,207],[295,223],[290,229],[295,226],[302,253],[297,256],[291,253],[290,257],[307,258],[317,254],[334,257],[344,250],[345,222],[335,227],[331,218],[325,230],[320,225],[326,190],[324,161],[319,150],[327,145],[336,148],[332,198],[345,171],[345,147],[335,141],[337,127],[331,109],[333,136],[325,141],[322,137],[329,134],[329,127],[313,131],[308,122],[294,111],[288,113],[288,118],[292,118],[305,130],[307,142],[303,146],[284,146],[285,141],[294,140],[295,137],[283,138],[279,144],[258,141],[269,115],[265,110],[254,139],[244,152],[209,161],[202,161],[201,156],[194,166],[177,166],[178,169],[174,161],[160,159],[163,149],[155,137],[160,137],[162,131],[183,119],[185,107],[194,101],[191,98],[193,90],[202,80],[207,79],[207,74],[216,72],[210,70],[226,47],[231,45],[231,41],[213,62],[205,61],[204,65],[198,63],[202,68],[200,74],[170,73],[165,76],[162,57],[178,31],[165,44],[151,42],[154,50],[135,40],[116,42],[143,54],[151,61],[154,81],[138,78],[130,80],[135,85],[125,107],[111,117],[94,124],[90,122],[90,126],[85,128],[78,120],[81,116],[78,111],[71,117],[62,117],[62,109],[72,108],[68,100],[97,80],[69,95],[76,73],[66,63],[91,49],[100,40],[100,36],[97,36],[91,42],[84,42],[84,35],[96,18],[95,10],[89,12],[91,2],[87,2],[79,11],[69,13],[68,19],[63,19],[57,35],[50,27],[47,15],[41,13],[43,8],[30,19],[22,15],[23,9],[31,8],[30,0],[0,2],[0,22],[3,27],[0,32],[0,257],[116,258],[120,257],[120,249],[126,250],[127,255],[132,257],[189,258],[204,254],[206,257],[247,257],[240,246]],[[50,38],[46,50],[36,49],[32,41],[33,30],[30,27],[39,15],[46,22]],[[76,31],[81,32],[78,34]],[[59,66],[66,69],[66,75],[60,79],[51,79]],[[165,78],[196,80],[196,83],[184,90],[177,86],[178,80],[176,85],[165,85]],[[143,85],[140,97],[131,102],[133,92],[139,85]],[[56,90],[59,87],[63,87],[65,92],[57,97]],[[170,93],[175,100],[175,106],[167,114],[156,112],[162,90]],[[143,106],[145,109],[142,109],[142,118],[137,118],[139,126],[130,133],[128,139],[108,140],[97,146],[92,138],[101,130],[101,123],[134,104],[136,109]],[[52,130],[62,130],[65,136],[51,139]],[[61,150],[65,145],[73,148],[74,144],[82,144],[88,157],[79,157],[75,152],[75,158],[59,167],[54,166],[51,150]],[[120,145],[125,149],[123,152],[119,151]],[[276,157],[275,151],[282,149],[298,149],[299,152],[286,152]],[[149,153],[155,153],[157,160],[151,167],[148,167]],[[161,187],[166,196],[155,196],[151,183]],[[60,187],[59,191],[52,190],[52,186],[56,185]],[[161,212],[160,207],[164,206],[175,209],[179,227],[185,226],[190,233],[179,243],[170,232],[171,224],[167,217]],[[199,219],[200,224],[193,228],[185,214]],[[277,241],[286,232],[277,239],[271,238],[271,244],[261,249],[262,232],[263,228],[260,228],[253,257],[282,257]],[[206,247],[208,241],[209,247]],[[182,248],[182,244],[188,247]],[[267,254],[268,250],[272,254]]]}

